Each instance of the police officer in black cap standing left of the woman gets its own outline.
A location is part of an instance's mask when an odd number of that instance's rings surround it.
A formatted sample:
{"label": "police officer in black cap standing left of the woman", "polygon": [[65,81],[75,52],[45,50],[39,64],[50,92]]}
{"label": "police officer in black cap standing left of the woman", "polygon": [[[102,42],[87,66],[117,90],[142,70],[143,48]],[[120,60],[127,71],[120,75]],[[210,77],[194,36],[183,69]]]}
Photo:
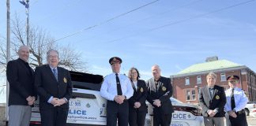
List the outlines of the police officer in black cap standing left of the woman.
{"label": "police officer in black cap standing left of the woman", "polygon": [[107,99],[107,126],[128,126],[129,99],[134,94],[130,79],[120,74],[122,59],[111,57],[109,59],[112,73],[104,78],[100,88],[100,95]]}

